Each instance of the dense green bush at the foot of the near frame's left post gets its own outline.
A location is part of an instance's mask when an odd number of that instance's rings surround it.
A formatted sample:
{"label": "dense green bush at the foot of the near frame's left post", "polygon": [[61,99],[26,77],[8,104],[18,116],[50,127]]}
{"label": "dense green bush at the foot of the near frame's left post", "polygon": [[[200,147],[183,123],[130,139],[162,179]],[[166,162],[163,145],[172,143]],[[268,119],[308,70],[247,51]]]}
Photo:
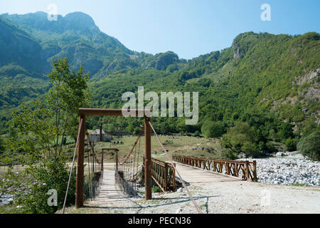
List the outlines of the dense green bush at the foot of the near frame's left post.
{"label": "dense green bush at the foot of the near frame's left post", "polygon": [[[53,214],[62,209],[67,190],[70,167],[64,160],[50,159],[26,169],[24,181],[19,184],[14,195],[14,205],[18,213]],[[75,169],[70,181],[66,206],[75,202]],[[48,205],[49,190],[57,191],[57,206]],[[16,213],[14,212],[14,213]]]}

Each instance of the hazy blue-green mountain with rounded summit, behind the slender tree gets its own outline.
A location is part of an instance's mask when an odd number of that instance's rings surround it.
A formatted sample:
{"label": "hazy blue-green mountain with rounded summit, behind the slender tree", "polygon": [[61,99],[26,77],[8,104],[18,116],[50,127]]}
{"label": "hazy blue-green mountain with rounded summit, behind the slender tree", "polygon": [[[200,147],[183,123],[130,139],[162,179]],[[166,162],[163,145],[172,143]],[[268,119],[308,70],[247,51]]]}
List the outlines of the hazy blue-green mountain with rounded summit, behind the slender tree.
{"label": "hazy blue-green mountain with rounded summit, behind the slender tree", "polygon": [[[46,76],[54,57],[68,58],[72,70],[82,65],[92,80],[126,68],[157,68],[183,62],[173,52],[137,53],[102,33],[87,14],[2,14],[0,16],[0,118],[11,108],[46,93]],[[4,128],[4,126],[3,126]]]}

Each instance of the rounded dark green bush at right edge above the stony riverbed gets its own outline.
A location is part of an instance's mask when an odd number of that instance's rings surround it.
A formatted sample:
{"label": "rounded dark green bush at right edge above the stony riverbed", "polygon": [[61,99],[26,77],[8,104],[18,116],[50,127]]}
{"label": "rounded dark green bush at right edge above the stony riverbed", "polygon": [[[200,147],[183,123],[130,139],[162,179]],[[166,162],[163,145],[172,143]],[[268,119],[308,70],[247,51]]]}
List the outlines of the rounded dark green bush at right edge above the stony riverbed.
{"label": "rounded dark green bush at right edge above the stony riverbed", "polygon": [[298,150],[302,155],[310,157],[312,160],[320,160],[320,131],[312,133],[302,138],[298,145]]}

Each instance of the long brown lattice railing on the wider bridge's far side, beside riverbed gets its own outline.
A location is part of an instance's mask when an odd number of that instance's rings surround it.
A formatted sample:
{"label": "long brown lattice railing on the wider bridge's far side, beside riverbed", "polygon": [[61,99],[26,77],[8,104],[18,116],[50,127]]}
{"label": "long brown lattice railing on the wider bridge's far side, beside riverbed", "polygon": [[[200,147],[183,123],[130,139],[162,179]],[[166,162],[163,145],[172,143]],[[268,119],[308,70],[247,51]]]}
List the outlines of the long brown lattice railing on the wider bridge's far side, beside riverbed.
{"label": "long brown lattice railing on the wider bridge's far side, beside riverbed", "polygon": [[211,170],[233,177],[241,177],[242,180],[257,182],[256,161],[217,160],[183,155],[172,155],[172,159],[184,165],[191,165],[203,170]]}

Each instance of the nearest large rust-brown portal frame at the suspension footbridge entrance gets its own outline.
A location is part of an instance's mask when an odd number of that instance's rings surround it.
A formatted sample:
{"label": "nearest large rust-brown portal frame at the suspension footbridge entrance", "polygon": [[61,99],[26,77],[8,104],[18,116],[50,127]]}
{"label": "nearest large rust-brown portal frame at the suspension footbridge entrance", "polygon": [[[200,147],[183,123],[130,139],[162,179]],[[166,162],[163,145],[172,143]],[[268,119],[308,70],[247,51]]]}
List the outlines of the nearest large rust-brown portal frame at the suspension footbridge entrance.
{"label": "nearest large rust-brown portal frame at the suspension footbridge entrance", "polygon": [[[135,113],[136,117],[144,117],[144,186],[145,186],[145,199],[151,199],[151,130],[150,130],[150,118],[146,116],[146,112],[150,113],[150,110],[127,110],[130,113]],[[77,177],[75,187],[75,207],[83,207],[84,195],[84,165],[85,160],[85,118],[87,115],[107,115],[107,116],[123,116],[122,109],[108,109],[108,108],[79,108],[79,142],[78,142],[78,164],[77,164]],[[143,116],[141,116],[143,115]]]}

